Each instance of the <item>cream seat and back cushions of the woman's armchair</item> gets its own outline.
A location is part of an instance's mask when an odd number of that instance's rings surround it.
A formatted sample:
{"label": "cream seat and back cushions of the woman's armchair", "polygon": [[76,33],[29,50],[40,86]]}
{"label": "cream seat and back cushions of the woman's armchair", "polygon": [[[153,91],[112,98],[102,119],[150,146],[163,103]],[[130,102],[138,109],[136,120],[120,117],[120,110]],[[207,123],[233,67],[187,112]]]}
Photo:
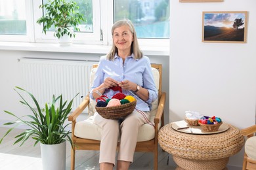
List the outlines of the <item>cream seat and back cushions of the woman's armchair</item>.
{"label": "cream seat and back cushions of the woman's armchair", "polygon": [[[93,68],[91,71],[90,83],[92,83],[94,80],[96,69],[97,68]],[[158,70],[155,68],[152,68],[152,73],[154,76],[154,82],[156,84],[156,88],[159,89],[160,74]],[[100,141],[101,129],[96,124],[94,124],[94,118],[96,116],[95,105],[96,105],[95,100],[90,99],[88,112],[89,112],[89,115],[91,116],[89,116],[87,120],[80,121],[75,124],[74,134],[76,137],[80,137],[83,139],[94,139],[94,140]],[[156,101],[152,103],[152,109],[150,110],[150,122],[152,122],[152,124],[154,124],[154,117],[156,116],[157,109],[158,109],[158,99],[156,99]],[[159,128],[161,127],[161,123],[160,123],[160,126],[158,127]],[[144,124],[140,128],[137,141],[149,141],[151,139],[154,139],[154,136],[155,136],[154,126],[150,124]]]}

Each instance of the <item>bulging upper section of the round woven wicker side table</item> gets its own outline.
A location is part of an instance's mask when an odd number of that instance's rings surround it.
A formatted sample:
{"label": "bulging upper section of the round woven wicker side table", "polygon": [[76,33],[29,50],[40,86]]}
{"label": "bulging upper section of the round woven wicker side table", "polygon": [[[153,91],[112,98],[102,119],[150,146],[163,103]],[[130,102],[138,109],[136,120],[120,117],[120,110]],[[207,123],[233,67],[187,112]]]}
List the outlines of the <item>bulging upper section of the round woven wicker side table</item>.
{"label": "bulging upper section of the round woven wicker side table", "polygon": [[238,153],[244,146],[244,136],[240,130],[228,124],[228,130],[221,133],[199,135],[176,131],[167,124],[158,133],[161,148],[190,160],[219,160]]}

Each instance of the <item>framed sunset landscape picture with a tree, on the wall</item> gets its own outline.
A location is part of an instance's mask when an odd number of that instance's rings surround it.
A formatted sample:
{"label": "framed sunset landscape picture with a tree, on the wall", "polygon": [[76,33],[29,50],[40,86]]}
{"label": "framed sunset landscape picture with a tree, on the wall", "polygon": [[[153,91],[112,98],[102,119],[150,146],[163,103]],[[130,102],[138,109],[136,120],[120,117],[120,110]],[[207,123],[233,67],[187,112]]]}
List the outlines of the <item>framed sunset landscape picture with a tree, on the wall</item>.
{"label": "framed sunset landscape picture with a tree, on the wall", "polygon": [[203,42],[245,43],[247,11],[203,12]]}

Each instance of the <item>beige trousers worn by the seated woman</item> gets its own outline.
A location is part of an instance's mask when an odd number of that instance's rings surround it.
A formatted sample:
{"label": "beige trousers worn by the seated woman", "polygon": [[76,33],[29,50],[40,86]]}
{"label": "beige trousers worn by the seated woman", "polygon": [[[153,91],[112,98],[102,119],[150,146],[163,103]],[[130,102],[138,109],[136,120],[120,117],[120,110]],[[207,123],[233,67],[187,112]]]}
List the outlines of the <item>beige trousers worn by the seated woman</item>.
{"label": "beige trousers worn by the seated woman", "polygon": [[150,112],[141,113],[135,109],[120,122],[96,114],[95,124],[102,128],[99,163],[116,165],[117,141],[120,141],[117,160],[132,162],[140,126],[148,122],[149,116]]}

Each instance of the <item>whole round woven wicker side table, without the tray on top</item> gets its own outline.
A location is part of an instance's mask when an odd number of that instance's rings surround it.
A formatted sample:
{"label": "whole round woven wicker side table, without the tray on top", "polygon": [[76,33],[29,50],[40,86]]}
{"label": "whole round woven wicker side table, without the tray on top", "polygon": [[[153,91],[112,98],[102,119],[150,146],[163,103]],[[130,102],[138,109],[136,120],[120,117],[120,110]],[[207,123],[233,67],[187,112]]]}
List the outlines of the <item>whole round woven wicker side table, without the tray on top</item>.
{"label": "whole round woven wicker side table, without the tray on top", "polygon": [[158,143],[173,155],[173,160],[179,166],[177,169],[226,169],[229,157],[244,146],[240,130],[231,125],[224,132],[207,135],[182,133],[171,126],[167,124],[160,129]]}

